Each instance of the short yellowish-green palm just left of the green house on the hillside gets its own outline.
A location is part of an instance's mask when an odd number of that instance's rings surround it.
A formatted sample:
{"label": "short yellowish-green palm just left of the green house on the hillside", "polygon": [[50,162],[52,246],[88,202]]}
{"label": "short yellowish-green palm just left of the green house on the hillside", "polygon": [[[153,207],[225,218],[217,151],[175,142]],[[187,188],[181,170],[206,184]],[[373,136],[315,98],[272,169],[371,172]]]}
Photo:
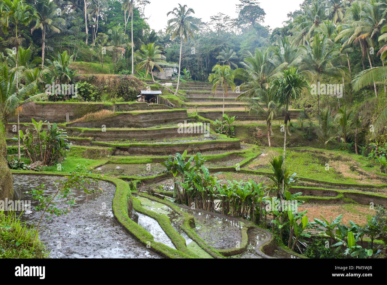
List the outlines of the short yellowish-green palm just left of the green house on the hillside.
{"label": "short yellowish-green palm just left of the green house on the hillside", "polygon": [[160,63],[163,61],[161,60],[161,47],[159,45],[155,45],[154,43],[142,45],[137,54],[142,58],[142,61],[137,64],[137,70],[145,69],[145,77],[147,77],[148,73],[150,72],[152,75],[152,80],[154,81],[152,72],[153,69],[156,68],[159,71],[163,71],[163,69],[157,64],[157,62]]}

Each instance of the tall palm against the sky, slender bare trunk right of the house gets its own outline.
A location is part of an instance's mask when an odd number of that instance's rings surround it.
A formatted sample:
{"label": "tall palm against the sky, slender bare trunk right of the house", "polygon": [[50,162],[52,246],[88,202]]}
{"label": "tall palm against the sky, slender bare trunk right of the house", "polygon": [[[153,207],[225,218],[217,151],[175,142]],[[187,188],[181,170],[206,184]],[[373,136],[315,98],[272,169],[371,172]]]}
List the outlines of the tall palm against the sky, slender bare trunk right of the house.
{"label": "tall palm against the sky, slender bare trunk right of the house", "polygon": [[179,89],[180,83],[183,40],[185,43],[187,43],[188,37],[193,38],[194,32],[199,30],[199,28],[196,26],[199,24],[199,19],[190,16],[190,14],[195,14],[194,9],[187,9],[187,5],[182,6],[182,4],[179,4],[179,7],[175,7],[172,11],[167,13],[167,16],[172,15],[174,17],[168,20],[168,28],[166,33],[172,33],[171,40],[174,40],[180,36],[179,74],[177,78],[176,93]]}

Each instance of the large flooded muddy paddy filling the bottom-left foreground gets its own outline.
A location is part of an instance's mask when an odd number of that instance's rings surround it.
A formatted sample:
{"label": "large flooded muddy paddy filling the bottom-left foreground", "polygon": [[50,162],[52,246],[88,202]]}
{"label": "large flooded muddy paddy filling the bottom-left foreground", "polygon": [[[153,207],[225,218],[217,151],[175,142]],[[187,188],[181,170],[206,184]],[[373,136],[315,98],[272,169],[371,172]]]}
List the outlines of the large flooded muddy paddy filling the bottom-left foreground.
{"label": "large flooded muddy paddy filling the bottom-left foreground", "polygon": [[[38,187],[41,183],[48,186],[47,193],[54,190],[53,182],[62,179],[56,176],[36,176],[14,174],[15,196],[22,200],[32,200],[24,192]],[[45,244],[49,257],[56,258],[158,258],[129,236],[116,222],[112,212],[115,185],[99,181],[91,188],[102,188],[103,192],[86,194],[75,191],[77,201],[67,215],[43,218],[39,239]],[[34,205],[34,203],[32,203]],[[24,213],[22,219],[27,223],[37,223],[37,211]]]}

